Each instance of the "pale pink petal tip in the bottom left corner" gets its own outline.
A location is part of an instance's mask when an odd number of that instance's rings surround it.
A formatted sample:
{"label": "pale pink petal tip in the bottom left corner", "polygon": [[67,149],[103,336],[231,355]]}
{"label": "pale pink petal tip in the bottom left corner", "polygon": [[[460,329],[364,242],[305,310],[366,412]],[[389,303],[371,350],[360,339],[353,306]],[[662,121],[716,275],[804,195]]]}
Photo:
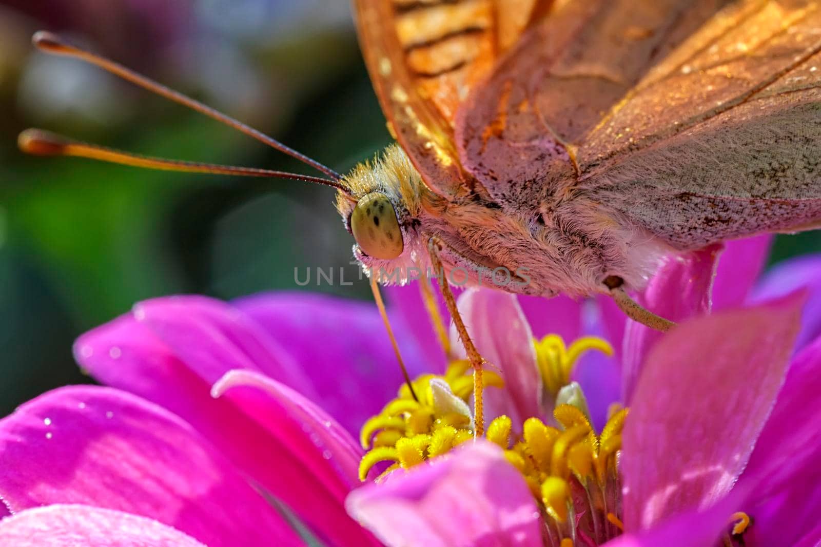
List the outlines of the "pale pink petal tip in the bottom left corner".
{"label": "pale pink petal tip in the bottom left corner", "polygon": [[14,547],[205,547],[181,531],[113,509],[55,504],[0,521],[0,544]]}

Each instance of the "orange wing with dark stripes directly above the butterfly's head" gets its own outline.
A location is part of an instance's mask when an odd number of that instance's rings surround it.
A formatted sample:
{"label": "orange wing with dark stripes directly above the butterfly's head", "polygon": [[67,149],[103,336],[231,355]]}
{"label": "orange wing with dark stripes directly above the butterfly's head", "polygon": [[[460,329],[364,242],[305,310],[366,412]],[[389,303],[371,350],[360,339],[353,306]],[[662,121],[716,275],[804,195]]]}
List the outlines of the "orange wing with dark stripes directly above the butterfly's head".
{"label": "orange wing with dark stripes directly above the butterfly's head", "polygon": [[470,90],[553,0],[355,0],[365,62],[388,127],[431,190],[470,191],[454,125]]}

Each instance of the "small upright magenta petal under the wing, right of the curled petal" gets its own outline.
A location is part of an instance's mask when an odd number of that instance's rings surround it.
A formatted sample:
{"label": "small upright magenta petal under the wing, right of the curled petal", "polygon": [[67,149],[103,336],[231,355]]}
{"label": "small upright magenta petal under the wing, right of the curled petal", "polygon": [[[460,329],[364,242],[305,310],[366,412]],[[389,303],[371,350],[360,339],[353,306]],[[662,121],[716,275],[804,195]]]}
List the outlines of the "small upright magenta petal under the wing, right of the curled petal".
{"label": "small upright magenta petal under the wing, right of the curled petal", "polygon": [[773,236],[727,241],[713,282],[713,310],[741,306],[764,271]]}

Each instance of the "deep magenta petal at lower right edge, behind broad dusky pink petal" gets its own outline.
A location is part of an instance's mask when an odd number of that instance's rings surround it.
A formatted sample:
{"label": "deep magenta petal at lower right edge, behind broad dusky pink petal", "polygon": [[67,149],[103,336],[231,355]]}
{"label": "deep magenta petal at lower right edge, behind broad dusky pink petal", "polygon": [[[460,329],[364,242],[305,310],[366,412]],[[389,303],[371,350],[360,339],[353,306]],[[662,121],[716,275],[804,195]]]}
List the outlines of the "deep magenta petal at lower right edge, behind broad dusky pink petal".
{"label": "deep magenta petal at lower right edge, behind broad dusky pink petal", "polygon": [[796,356],[739,485],[753,493],[759,545],[784,545],[818,522],[821,506],[821,338]]}

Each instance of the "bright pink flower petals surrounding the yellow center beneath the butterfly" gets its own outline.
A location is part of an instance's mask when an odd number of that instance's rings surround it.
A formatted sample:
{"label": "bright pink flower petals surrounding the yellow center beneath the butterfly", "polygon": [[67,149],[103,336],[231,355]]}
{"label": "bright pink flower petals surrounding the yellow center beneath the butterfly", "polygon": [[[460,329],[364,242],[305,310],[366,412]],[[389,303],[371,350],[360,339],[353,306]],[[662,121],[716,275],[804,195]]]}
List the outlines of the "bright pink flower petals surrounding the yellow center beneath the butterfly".
{"label": "bright pink flower petals surrounding the yellow center beneath the butterfly", "polygon": [[[738,252],[731,246],[724,256]],[[733,267],[737,282],[727,293],[736,296],[727,296],[727,306],[745,298],[764,254]],[[744,274],[748,270],[755,273]],[[701,271],[696,268],[693,275]],[[721,280],[720,274],[717,287]],[[681,292],[671,288],[659,294],[658,302],[648,301],[648,306],[663,303],[664,294]],[[442,372],[446,359],[429,331],[415,287],[392,296],[394,326],[406,334],[400,343],[411,374]],[[717,308],[718,300],[717,288]],[[488,397],[489,408],[517,420],[544,415],[550,407],[544,398],[539,400],[535,388],[539,378],[530,360],[530,325],[539,336],[559,332],[575,339],[581,333],[607,333],[614,342],[625,329],[607,302],[589,310],[566,299],[525,299],[521,306],[527,319],[514,298],[500,293],[468,294],[461,305],[472,309],[466,310],[466,319],[470,329],[481,333],[479,349],[505,375],[506,395]],[[798,538],[812,522],[811,505],[802,512],[794,500],[821,495],[809,464],[817,457],[815,444],[809,442],[809,432],[818,423],[810,381],[819,377],[814,346],[796,356],[782,390],[792,394],[778,398],[759,434],[756,428],[764,422],[787,363],[796,304],[788,300],[732,313],[736,315],[682,325],[656,345],[638,370],[623,449],[625,483],[631,485],[624,515],[631,534],[617,541],[658,545],[644,535],[681,530],[675,527],[679,521],[664,520],[668,516],[681,519],[681,526],[697,520],[697,531],[713,538],[729,514],[747,511],[756,518],[745,536],[748,545],[753,540],[761,543],[752,545],[773,545],[766,541],[778,534]],[[727,335],[731,327],[734,336],[741,336],[732,352],[719,343],[732,339]],[[765,336],[777,329],[781,336]],[[701,344],[703,337],[712,338]],[[752,354],[750,340],[755,337],[761,339]],[[802,337],[812,338],[813,333]],[[598,411],[602,421],[621,384],[618,363],[625,352],[620,344],[614,346],[615,361],[581,361],[574,372],[589,396],[595,394],[596,401],[609,398],[594,408],[589,397],[594,419]],[[749,354],[744,362],[731,358],[742,352]],[[57,389],[0,421],[0,499],[13,515],[0,520],[4,540],[27,536],[34,538],[32,545],[44,545],[46,539],[48,545],[72,545],[71,538],[82,538],[82,545],[110,545],[115,535],[122,538],[121,545],[299,545],[304,540],[282,517],[287,507],[323,544],[378,545],[346,513],[347,498],[357,519],[379,536],[390,526],[401,541],[448,545],[448,536],[442,534],[451,528],[464,531],[457,544],[541,541],[530,490],[502,450],[487,444],[454,452],[406,476],[394,474],[382,485],[366,486],[349,497],[360,484],[363,454],[350,433],[377,414],[401,385],[383,326],[367,304],[308,295],[254,296],[233,304],[200,296],[161,298],[85,334],[76,343],[76,356],[94,378],[112,387]],[[709,360],[711,366],[694,368],[688,358]],[[671,362],[678,365],[665,366]],[[752,382],[746,378],[750,367],[758,370],[756,389],[744,388]],[[693,370],[709,374],[693,375]],[[670,393],[666,401],[656,391],[663,384]],[[709,393],[710,388],[715,393]],[[698,402],[705,400],[718,406],[708,413],[699,408]],[[805,418],[796,423],[792,416],[798,411]],[[680,424],[681,416],[690,429],[679,431],[684,435],[679,442],[668,438],[665,428]],[[696,425],[712,425],[704,423],[705,416],[722,417],[716,430],[726,443],[710,436],[709,428],[699,436]],[[652,419],[658,423],[644,421]],[[640,428],[631,425],[639,421]],[[782,427],[784,423],[790,426]],[[702,441],[705,453],[706,448],[715,449],[701,461],[704,465],[729,466],[728,454],[739,458],[735,467],[727,467],[729,476],[741,474],[736,487],[730,489],[728,480],[711,483],[704,475],[687,489],[677,483],[678,494],[665,499],[663,506],[648,505],[661,479],[653,479],[647,468],[657,467],[658,477],[674,475],[676,466],[687,463],[687,450],[696,448],[693,437]],[[654,439],[679,452],[664,452],[666,459],[650,461],[647,454],[660,446]],[[634,456],[631,447],[637,447],[632,448]],[[784,459],[787,453],[793,454],[789,461]],[[806,480],[796,481],[796,476]],[[719,500],[718,506],[701,507],[705,491]],[[764,495],[752,499],[750,492]],[[394,510],[383,510],[388,507]],[[433,526],[438,522],[433,517],[448,512],[452,517],[443,526]],[[411,526],[414,522],[418,526]],[[778,528],[780,522],[788,525]],[[409,532],[416,535],[402,536]]]}

